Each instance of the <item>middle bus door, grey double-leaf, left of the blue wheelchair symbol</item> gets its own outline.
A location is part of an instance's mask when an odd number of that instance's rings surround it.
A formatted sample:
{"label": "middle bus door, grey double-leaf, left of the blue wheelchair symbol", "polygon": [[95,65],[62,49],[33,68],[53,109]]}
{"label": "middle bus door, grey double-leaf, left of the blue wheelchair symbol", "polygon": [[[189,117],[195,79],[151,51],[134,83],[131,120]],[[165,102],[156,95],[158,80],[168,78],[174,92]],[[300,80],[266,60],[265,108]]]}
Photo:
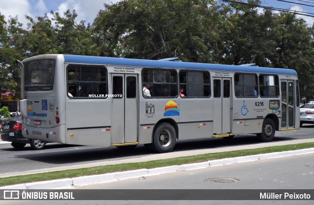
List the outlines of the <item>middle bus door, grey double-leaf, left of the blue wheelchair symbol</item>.
{"label": "middle bus door, grey double-leaf, left of the blue wheelchair symbol", "polygon": [[215,137],[225,137],[221,134],[231,132],[231,90],[231,78],[213,78],[213,135],[216,135]]}

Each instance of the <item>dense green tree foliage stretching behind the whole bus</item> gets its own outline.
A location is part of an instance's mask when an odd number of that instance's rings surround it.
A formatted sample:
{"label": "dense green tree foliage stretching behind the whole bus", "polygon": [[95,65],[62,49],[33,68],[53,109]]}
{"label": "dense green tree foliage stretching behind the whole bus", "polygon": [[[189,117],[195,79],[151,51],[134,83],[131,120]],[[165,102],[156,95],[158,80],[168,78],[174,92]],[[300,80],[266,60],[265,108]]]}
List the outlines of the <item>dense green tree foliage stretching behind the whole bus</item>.
{"label": "dense green tree foliage stretching behind the whole bus", "polygon": [[51,12],[22,25],[0,14],[0,89],[19,93],[15,59],[60,53],[292,68],[301,96],[314,96],[314,27],[295,14],[217,0],[121,0],[92,25],[77,18]]}

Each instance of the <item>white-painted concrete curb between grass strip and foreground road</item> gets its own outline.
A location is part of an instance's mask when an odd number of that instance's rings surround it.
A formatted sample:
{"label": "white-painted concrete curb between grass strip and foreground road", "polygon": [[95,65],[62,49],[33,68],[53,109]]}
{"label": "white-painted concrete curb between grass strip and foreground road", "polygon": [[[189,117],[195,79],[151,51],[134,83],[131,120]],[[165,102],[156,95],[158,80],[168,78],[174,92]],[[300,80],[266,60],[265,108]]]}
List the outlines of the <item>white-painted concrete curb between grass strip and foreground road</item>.
{"label": "white-painted concrete curb between grass strip and foreground road", "polygon": [[85,186],[97,183],[107,183],[118,180],[124,180],[129,178],[139,177],[145,178],[146,176],[156,176],[166,173],[174,173],[179,171],[187,171],[187,170],[196,170],[203,169],[209,167],[217,167],[223,165],[230,165],[236,163],[245,163],[245,162],[253,162],[260,161],[265,159],[274,159],[302,154],[312,154],[314,153],[314,148],[293,150],[293,151],[283,151],[283,152],[274,152],[267,154],[258,154],[251,156],[243,156],[243,157],[234,157],[234,158],[226,158],[226,159],[218,159],[218,160],[210,160],[207,162],[194,163],[194,164],[185,164],[185,165],[176,165],[169,167],[159,167],[154,169],[140,169],[140,170],[132,170],[127,172],[117,172],[117,173],[108,173],[103,175],[93,175],[93,176],[80,176],[74,178],[64,178],[64,179],[56,179],[50,181],[40,181],[40,182],[32,182],[25,184],[16,184],[11,186],[3,186],[0,189],[71,189],[77,186]]}

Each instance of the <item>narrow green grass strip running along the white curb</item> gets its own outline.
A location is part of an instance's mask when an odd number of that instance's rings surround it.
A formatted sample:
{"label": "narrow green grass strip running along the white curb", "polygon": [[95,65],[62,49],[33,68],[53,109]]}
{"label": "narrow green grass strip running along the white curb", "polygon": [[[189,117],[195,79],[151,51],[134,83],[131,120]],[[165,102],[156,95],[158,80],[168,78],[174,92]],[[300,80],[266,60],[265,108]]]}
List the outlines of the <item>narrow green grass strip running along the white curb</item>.
{"label": "narrow green grass strip running along the white curb", "polygon": [[101,175],[105,173],[123,172],[123,171],[137,170],[137,169],[152,169],[152,168],[157,168],[157,167],[191,164],[191,163],[205,162],[205,161],[215,160],[215,159],[224,159],[224,158],[265,154],[265,153],[272,153],[272,152],[281,152],[281,151],[305,149],[305,148],[311,148],[311,147],[314,147],[314,143],[303,143],[303,144],[284,145],[284,146],[270,146],[270,147],[263,147],[263,148],[256,148],[256,149],[243,149],[243,150],[236,150],[236,151],[226,151],[226,152],[200,154],[200,155],[194,155],[194,156],[176,157],[176,158],[171,158],[171,159],[162,159],[162,160],[155,160],[155,161],[148,161],[148,162],[125,163],[125,164],[117,164],[117,165],[81,168],[81,169],[76,169],[76,170],[64,170],[64,171],[38,173],[38,174],[22,175],[22,176],[10,176],[10,177],[0,178],[0,186],[8,186],[8,185],[13,185],[13,184],[30,183],[30,182],[36,182],[36,181],[46,181],[46,180],[61,179],[61,178],[73,178],[73,177],[78,177],[78,176]]}

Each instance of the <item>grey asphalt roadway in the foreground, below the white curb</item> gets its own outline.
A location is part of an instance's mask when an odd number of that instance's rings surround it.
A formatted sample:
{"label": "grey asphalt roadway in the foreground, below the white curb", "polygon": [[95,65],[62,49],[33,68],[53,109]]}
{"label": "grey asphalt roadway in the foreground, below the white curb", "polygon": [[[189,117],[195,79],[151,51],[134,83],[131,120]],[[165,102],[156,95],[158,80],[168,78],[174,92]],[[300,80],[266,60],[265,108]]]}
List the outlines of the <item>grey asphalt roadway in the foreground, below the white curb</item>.
{"label": "grey asphalt roadway in the foreground, below the white curb", "polygon": [[[133,189],[218,189],[220,194],[230,189],[290,189],[291,193],[300,189],[314,189],[314,154],[284,157],[258,162],[247,162],[200,170],[168,173],[159,176],[148,176],[145,179],[135,178],[104,184],[77,187],[73,190],[86,189],[124,189],[117,191],[116,199],[128,195]],[[226,183],[224,179],[233,181]],[[140,180],[141,179],[141,180]],[[216,182],[212,182],[216,181]],[[222,183],[225,182],[225,183]],[[71,191],[71,190],[69,190]],[[168,190],[169,191],[169,190]],[[92,192],[93,193],[93,192]],[[154,192],[151,193],[154,195]],[[245,193],[244,193],[245,194]],[[86,196],[88,198],[88,196]],[[2,205],[310,205],[312,201],[2,201]],[[162,195],[160,195],[162,199]]]}

